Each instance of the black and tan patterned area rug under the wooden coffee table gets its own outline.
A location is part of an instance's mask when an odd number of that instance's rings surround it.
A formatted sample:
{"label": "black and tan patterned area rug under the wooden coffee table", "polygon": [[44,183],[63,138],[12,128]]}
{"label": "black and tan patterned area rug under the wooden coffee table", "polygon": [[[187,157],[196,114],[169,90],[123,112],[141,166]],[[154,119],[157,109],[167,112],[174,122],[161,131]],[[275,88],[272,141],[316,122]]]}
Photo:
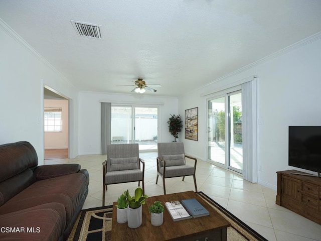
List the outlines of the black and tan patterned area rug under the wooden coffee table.
{"label": "black and tan patterned area rug under the wooden coffee table", "polygon": [[[231,241],[267,241],[220,204],[203,192],[198,192],[206,202],[224,216],[232,226],[227,228],[227,240]],[[70,233],[68,241],[109,241],[111,238],[112,206],[82,210]],[[143,241],[143,240],[142,240]]]}

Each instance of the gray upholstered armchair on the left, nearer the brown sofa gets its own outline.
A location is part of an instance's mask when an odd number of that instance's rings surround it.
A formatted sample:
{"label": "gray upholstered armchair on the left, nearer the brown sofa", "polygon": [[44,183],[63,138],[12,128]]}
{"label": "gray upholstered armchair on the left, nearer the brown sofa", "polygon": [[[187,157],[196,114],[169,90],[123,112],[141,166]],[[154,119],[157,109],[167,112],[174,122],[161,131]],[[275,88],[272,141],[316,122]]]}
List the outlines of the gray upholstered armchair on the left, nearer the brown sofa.
{"label": "gray upholstered armchair on the left, nearer the brown sofa", "polygon": [[[142,163],[142,170],[140,170]],[[142,182],[144,190],[145,163],[139,158],[138,144],[107,145],[107,160],[103,163],[103,193],[102,205],[105,205],[107,184]]]}

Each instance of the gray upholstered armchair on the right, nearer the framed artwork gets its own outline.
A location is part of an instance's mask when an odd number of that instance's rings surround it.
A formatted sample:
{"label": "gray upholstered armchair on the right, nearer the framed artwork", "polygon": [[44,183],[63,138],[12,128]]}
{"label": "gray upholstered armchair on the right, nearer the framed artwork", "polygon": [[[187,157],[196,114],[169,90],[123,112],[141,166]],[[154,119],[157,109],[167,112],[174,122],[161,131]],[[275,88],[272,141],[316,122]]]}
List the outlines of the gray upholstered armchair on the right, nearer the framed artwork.
{"label": "gray upholstered armchair on the right, nearer the framed artwork", "polygon": [[[197,159],[185,155],[184,144],[178,142],[158,143],[157,148],[158,157],[156,184],[158,181],[158,176],[161,175],[163,177],[164,194],[166,194],[165,178],[183,177],[184,181],[185,176],[193,176],[195,191],[197,192],[195,178]],[[194,166],[186,165],[185,158],[194,160]]]}

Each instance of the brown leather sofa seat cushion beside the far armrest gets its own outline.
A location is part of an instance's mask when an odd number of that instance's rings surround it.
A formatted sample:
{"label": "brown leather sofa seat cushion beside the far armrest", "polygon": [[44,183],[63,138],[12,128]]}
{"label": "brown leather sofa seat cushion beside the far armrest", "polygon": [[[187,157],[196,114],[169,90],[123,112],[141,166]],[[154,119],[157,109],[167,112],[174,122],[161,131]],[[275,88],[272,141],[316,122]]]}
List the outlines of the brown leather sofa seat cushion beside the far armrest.
{"label": "brown leather sofa seat cushion beside the far armrest", "polygon": [[87,191],[88,172],[69,174],[40,180],[7,201],[0,207],[0,214],[14,212],[49,202],[62,203],[66,209],[66,220],[69,223],[81,198]]}

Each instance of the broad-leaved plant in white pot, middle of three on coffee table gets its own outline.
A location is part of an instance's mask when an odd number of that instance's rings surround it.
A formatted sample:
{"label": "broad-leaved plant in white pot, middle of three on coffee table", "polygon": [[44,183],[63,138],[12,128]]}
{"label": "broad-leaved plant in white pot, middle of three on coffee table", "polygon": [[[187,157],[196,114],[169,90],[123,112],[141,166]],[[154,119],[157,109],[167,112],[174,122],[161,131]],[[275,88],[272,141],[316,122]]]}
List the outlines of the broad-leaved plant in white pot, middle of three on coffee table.
{"label": "broad-leaved plant in white pot, middle of three on coffee table", "polygon": [[127,224],[130,228],[136,228],[141,225],[141,205],[145,204],[147,195],[143,195],[142,189],[137,187],[135,195],[130,196],[129,191],[125,192],[128,200]]}

